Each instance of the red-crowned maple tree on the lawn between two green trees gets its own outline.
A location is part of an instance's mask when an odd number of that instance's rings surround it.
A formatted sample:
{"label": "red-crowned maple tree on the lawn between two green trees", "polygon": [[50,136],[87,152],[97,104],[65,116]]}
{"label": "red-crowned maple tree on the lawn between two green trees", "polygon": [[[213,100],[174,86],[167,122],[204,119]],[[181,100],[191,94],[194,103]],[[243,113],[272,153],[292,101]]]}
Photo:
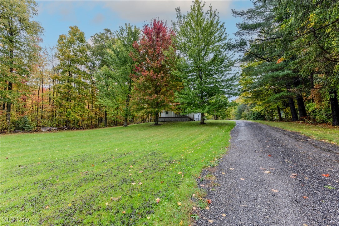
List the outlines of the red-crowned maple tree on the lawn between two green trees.
{"label": "red-crowned maple tree on the lawn between two green trees", "polygon": [[143,26],[139,42],[133,44],[136,53],[131,53],[137,62],[132,99],[138,110],[155,116],[155,125],[160,111],[174,107],[174,92],[181,86],[175,73],[174,36],[166,22],[153,19]]}

